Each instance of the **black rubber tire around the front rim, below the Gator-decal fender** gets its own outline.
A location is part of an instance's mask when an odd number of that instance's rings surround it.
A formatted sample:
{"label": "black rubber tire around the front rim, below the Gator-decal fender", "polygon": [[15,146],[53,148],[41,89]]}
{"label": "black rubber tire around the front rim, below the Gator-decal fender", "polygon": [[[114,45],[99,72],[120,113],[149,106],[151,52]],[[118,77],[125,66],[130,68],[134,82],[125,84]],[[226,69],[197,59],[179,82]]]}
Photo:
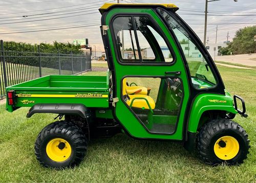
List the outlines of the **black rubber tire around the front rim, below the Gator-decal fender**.
{"label": "black rubber tire around the front rim, below the Gator-decal fender", "polygon": [[[214,150],[215,145],[220,146],[220,141],[224,136],[231,136],[239,144],[238,153],[231,159],[224,160],[219,158]],[[223,141],[222,141],[223,142]],[[226,163],[228,165],[237,165],[243,163],[249,153],[249,139],[246,131],[238,123],[228,119],[217,119],[206,123],[201,127],[197,135],[197,147],[202,161],[209,165],[218,165]],[[224,148],[226,143],[224,143]],[[223,147],[219,147],[223,148]],[[226,155],[225,155],[226,156]]]}

